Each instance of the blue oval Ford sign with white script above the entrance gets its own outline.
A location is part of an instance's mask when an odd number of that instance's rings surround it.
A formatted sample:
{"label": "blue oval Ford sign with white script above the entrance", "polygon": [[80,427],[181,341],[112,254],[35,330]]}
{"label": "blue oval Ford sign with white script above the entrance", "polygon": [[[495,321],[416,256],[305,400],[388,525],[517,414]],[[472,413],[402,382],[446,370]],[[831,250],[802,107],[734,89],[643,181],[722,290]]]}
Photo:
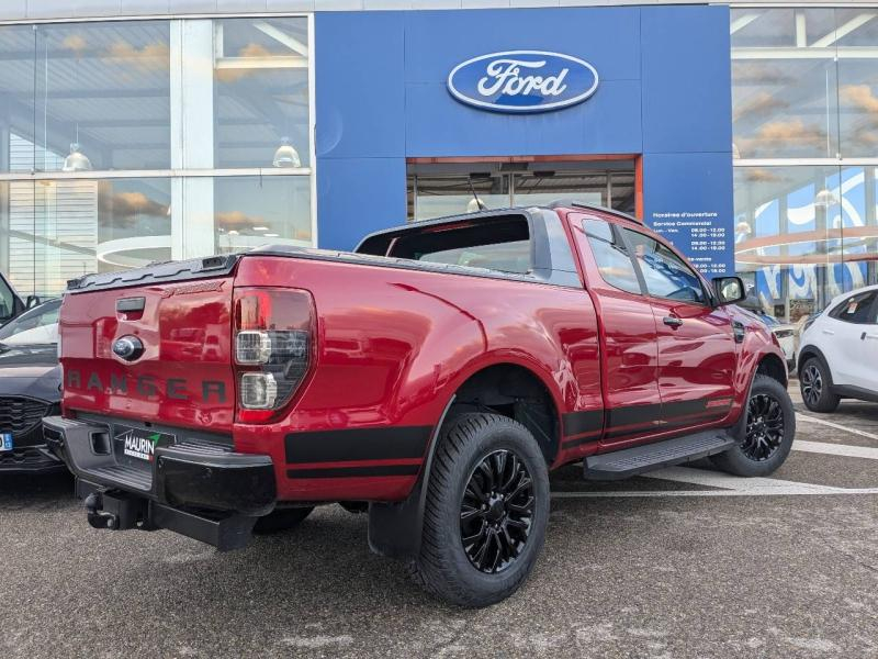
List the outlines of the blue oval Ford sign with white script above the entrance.
{"label": "blue oval Ford sign with white script above the entrance", "polygon": [[597,89],[597,70],[561,53],[507,51],[455,66],[448,90],[461,103],[496,112],[545,112],[582,103]]}

